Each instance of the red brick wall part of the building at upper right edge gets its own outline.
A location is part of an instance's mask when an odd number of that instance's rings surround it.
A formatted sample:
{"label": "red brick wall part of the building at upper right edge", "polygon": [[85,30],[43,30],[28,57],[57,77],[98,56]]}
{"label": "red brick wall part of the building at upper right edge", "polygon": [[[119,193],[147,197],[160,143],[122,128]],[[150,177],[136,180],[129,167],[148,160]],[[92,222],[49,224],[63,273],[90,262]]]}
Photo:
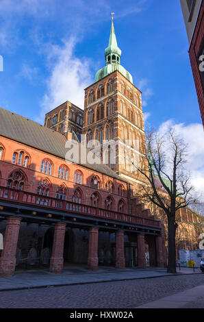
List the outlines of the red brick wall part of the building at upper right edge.
{"label": "red brick wall part of the building at upper right edge", "polygon": [[[199,107],[201,110],[201,119],[204,127],[204,71],[203,58],[204,55],[204,3],[202,1],[199,16],[196,21],[196,27],[192,36],[192,41],[189,49],[190,64],[192,67],[192,73],[194,77],[194,83],[196,86],[196,93],[199,101]],[[200,69],[199,69],[200,66]]]}

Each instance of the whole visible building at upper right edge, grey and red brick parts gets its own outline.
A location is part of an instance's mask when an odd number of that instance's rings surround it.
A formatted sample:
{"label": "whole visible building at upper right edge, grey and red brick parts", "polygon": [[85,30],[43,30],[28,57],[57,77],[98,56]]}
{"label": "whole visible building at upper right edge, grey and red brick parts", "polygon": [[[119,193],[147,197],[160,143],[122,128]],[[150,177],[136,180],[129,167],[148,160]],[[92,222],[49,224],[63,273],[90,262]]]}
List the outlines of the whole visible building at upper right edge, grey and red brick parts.
{"label": "whole visible building at upper right edge, grey and red brick parts", "polygon": [[180,0],[189,42],[189,56],[204,126],[204,2]]}

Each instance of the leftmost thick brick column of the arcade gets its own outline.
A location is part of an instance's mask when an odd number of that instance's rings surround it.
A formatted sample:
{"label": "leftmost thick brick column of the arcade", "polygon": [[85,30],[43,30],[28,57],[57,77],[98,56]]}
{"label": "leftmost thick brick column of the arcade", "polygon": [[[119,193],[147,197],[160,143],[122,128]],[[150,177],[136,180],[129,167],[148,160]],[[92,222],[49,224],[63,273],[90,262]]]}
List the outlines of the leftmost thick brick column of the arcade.
{"label": "leftmost thick brick column of the arcade", "polygon": [[0,258],[0,275],[14,275],[16,267],[16,247],[21,226],[21,218],[9,217],[5,228],[3,251]]}

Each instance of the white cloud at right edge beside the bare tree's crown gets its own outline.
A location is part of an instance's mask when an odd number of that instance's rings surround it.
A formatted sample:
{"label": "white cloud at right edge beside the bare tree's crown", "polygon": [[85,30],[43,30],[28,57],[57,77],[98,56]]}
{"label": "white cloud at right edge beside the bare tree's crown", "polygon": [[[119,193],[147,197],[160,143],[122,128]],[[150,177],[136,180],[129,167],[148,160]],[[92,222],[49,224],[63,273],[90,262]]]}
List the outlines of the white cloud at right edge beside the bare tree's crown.
{"label": "white cloud at right edge beside the bare tree's crown", "polygon": [[188,144],[186,170],[190,172],[191,183],[204,201],[204,132],[199,123],[175,124],[168,120],[160,125],[159,131],[165,133],[169,127],[175,127],[175,133]]}

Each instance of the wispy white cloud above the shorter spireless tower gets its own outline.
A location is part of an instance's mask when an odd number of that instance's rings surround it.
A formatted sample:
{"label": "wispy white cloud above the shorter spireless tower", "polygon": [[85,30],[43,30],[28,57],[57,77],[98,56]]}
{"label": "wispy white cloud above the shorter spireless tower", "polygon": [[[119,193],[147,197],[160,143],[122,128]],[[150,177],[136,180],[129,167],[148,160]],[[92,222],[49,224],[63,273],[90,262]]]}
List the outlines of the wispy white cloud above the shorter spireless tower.
{"label": "wispy white cloud above the shorter spireless tower", "polygon": [[47,51],[47,60],[51,74],[47,79],[47,93],[42,99],[42,111],[38,121],[44,120],[49,110],[71,101],[84,109],[84,89],[92,84],[90,60],[79,59],[74,50],[77,40],[73,37],[64,41],[62,47],[51,45]]}

